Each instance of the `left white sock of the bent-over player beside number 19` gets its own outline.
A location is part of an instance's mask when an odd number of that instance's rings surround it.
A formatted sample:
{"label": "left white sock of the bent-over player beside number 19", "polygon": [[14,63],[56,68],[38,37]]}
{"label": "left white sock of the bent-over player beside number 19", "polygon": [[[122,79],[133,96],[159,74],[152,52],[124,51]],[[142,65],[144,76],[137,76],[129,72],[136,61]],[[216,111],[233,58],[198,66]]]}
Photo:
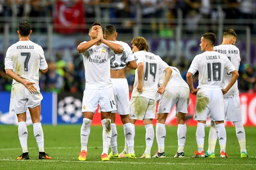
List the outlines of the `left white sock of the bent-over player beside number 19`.
{"label": "left white sock of the bent-over player beside number 19", "polygon": [[156,138],[158,145],[158,153],[164,152],[164,141],[166,137],[166,128],[165,124],[157,123],[156,125]]}

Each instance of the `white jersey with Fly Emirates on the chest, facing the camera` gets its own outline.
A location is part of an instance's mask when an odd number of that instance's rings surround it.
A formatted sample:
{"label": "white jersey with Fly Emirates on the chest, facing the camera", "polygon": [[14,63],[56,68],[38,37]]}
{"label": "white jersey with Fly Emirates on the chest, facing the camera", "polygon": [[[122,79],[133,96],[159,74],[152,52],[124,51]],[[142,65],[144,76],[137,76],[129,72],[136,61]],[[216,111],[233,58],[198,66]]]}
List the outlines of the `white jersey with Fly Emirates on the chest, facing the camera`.
{"label": "white jersey with Fly Emirates on the chest, facing the camera", "polygon": [[114,51],[103,43],[101,45],[93,45],[82,53],[84,58],[85,88],[103,89],[112,87],[110,58],[113,53]]}

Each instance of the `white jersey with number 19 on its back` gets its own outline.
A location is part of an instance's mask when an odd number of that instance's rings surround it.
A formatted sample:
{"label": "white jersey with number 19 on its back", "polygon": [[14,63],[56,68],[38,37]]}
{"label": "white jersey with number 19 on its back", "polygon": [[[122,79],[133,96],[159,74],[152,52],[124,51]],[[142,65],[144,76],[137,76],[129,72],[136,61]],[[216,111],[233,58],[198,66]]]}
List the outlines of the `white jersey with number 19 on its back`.
{"label": "white jersey with number 19 on its back", "polygon": [[143,75],[143,88],[142,93],[137,91],[138,85],[138,69],[135,70],[134,88],[132,97],[147,97],[149,99],[156,99],[157,85],[159,81],[159,71],[164,71],[169,65],[166,64],[159,56],[146,52],[137,51],[134,53],[137,64],[143,62],[144,75]]}

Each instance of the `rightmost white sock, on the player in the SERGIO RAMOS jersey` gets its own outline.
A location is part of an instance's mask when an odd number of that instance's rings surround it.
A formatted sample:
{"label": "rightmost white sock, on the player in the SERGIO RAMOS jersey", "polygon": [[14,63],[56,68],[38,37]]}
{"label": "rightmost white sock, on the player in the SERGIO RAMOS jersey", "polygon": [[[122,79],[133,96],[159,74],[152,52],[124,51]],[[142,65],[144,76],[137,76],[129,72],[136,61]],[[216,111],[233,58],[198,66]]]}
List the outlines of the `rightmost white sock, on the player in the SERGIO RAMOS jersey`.
{"label": "rightmost white sock, on the player in the SERGIO RAMOS jersey", "polygon": [[245,139],[245,131],[242,121],[233,122],[236,127],[236,137],[238,139],[240,145],[240,151],[247,153],[246,150],[246,139]]}

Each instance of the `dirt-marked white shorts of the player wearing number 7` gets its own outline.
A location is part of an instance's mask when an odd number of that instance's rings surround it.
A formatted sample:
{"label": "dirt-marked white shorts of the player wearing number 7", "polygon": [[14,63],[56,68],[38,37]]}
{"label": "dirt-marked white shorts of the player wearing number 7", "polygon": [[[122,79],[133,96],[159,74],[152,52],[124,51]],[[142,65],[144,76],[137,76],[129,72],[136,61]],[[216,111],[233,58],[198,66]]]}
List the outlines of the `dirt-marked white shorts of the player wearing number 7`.
{"label": "dirt-marked white shorts of the player wearing number 7", "polygon": [[[39,89],[38,85],[35,85]],[[40,105],[43,99],[40,91],[30,92],[23,84],[12,85],[9,113],[24,113],[28,108],[35,108]]]}

